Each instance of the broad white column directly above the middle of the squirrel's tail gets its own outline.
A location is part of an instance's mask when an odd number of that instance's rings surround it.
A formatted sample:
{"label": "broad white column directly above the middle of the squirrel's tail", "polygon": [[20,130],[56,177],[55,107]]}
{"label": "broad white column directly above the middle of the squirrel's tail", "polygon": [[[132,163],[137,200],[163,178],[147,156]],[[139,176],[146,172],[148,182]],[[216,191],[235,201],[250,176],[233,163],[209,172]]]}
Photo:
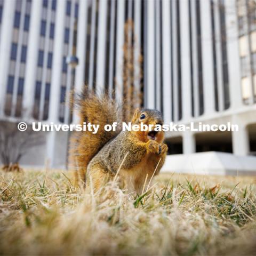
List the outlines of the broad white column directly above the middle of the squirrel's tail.
{"label": "broad white column directly above the middle of the squirrel's tail", "polygon": [[[106,30],[107,30],[107,1],[99,1],[99,28],[98,28],[98,50],[97,50],[97,87],[105,88],[105,55],[106,55]],[[109,51],[109,49],[107,49]]]}

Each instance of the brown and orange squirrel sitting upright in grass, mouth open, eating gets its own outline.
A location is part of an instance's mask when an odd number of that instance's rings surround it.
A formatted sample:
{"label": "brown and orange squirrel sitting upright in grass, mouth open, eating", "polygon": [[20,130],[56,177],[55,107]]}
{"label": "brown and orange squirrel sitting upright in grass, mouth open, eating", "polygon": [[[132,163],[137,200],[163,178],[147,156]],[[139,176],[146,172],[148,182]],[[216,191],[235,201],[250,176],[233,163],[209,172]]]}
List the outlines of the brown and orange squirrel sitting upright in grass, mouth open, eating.
{"label": "brown and orange squirrel sitting upright in grass, mouth open, eating", "polygon": [[[78,101],[81,123],[99,124],[99,130],[96,134],[89,131],[78,134],[76,180],[82,179],[85,186],[92,181],[96,191],[114,180],[119,171],[119,187],[141,194],[143,186],[161,170],[168,148],[163,143],[163,131],[121,131],[120,125],[116,131],[105,131],[106,124],[121,124],[121,110],[108,94],[84,90]],[[158,110],[136,109],[131,123],[141,122],[162,125],[163,116]]]}

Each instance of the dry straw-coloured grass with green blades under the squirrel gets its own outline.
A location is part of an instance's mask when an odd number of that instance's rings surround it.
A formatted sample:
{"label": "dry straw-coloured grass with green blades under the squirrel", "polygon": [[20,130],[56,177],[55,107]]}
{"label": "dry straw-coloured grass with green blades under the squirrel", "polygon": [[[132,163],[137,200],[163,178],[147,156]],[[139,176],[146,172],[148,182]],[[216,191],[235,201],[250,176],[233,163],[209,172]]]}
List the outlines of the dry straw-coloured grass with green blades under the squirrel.
{"label": "dry straw-coloured grass with green blades under the squirrel", "polygon": [[138,197],[85,194],[65,171],[0,172],[0,254],[255,255],[255,181],[161,174]]}

